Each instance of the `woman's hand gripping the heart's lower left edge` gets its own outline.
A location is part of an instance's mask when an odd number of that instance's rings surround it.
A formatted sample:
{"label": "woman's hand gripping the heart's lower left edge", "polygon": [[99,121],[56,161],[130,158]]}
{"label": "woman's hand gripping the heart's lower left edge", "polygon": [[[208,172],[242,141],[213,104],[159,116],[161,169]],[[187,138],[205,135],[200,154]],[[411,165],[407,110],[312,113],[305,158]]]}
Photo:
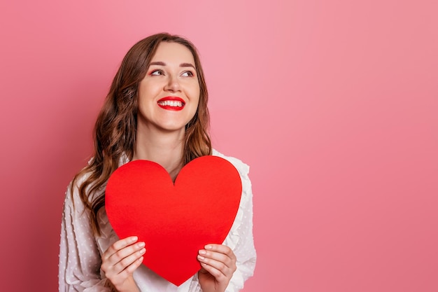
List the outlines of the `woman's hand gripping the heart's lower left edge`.
{"label": "woman's hand gripping the heart's lower left edge", "polygon": [[143,262],[144,242],[138,237],[126,237],[114,242],[102,255],[101,269],[119,292],[139,291],[132,273]]}

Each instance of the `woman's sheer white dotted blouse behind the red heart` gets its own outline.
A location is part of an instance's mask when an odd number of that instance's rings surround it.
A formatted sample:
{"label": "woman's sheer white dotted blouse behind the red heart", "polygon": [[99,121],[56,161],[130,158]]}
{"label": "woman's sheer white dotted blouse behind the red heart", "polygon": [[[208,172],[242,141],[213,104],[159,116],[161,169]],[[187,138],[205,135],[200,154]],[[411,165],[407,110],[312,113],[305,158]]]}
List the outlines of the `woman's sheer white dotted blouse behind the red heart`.
{"label": "woman's sheer white dotted blouse behind the red heart", "polygon": [[[227,238],[222,243],[229,246],[237,258],[237,270],[229,281],[226,291],[237,292],[243,288],[243,282],[253,275],[256,258],[253,242],[253,193],[248,177],[249,167],[241,160],[227,157],[216,150],[213,150],[213,155],[231,162],[239,171],[242,181],[239,210]],[[84,179],[80,179],[79,183]],[[104,286],[106,278],[100,269],[101,255],[118,240],[118,237],[108,223],[105,208],[101,208],[97,216],[101,228],[100,236],[95,236],[92,232],[90,211],[85,210],[78,189],[69,186],[64,201],[59,244],[59,291],[111,292],[110,288]],[[140,265],[133,277],[142,292],[202,291],[197,274],[180,286],[175,286],[149,270],[146,265]]]}

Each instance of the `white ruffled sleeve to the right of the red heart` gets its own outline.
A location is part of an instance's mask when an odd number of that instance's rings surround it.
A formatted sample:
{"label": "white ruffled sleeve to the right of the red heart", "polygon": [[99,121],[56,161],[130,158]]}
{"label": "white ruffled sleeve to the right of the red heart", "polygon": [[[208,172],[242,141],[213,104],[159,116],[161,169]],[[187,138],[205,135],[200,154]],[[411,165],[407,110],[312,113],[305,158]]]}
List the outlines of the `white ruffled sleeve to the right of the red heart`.
{"label": "white ruffled sleeve to the right of the red heart", "polygon": [[254,274],[256,252],[253,239],[253,191],[249,179],[249,166],[236,158],[226,157],[217,151],[213,155],[227,159],[239,171],[242,181],[242,196],[239,210],[231,230],[223,244],[234,251],[237,270],[234,272],[226,292],[237,292],[244,282]]}

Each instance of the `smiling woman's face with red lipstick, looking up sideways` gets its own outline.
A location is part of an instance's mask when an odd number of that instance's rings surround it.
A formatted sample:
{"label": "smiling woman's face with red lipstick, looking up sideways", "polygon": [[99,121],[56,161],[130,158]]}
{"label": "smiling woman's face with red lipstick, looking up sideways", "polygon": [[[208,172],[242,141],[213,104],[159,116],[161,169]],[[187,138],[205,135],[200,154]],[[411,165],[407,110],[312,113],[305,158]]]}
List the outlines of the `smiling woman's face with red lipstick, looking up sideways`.
{"label": "smiling woman's face with red lipstick, looking up sideways", "polygon": [[195,116],[199,82],[195,60],[179,43],[162,42],[139,85],[139,127],[183,131]]}

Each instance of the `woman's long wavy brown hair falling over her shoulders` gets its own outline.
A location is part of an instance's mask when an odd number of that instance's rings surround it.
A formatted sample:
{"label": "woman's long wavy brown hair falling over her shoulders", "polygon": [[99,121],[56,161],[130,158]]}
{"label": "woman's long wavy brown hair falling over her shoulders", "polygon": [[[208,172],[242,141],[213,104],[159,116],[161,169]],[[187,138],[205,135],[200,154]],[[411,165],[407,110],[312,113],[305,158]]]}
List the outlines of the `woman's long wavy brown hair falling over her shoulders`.
{"label": "woman's long wavy brown hair falling over her shoulders", "polygon": [[[105,205],[105,195],[99,190],[104,189],[106,181],[119,167],[123,157],[132,160],[136,141],[139,83],[146,76],[150,60],[163,41],[180,43],[192,52],[199,81],[198,108],[192,120],[185,125],[183,164],[199,156],[211,155],[207,109],[209,95],[197,49],[187,39],[167,33],[154,34],[139,41],[123,58],[97,117],[93,135],[94,155],[71,183],[72,188],[78,185],[80,200],[90,210],[90,224],[96,235],[100,235],[97,212]],[[94,195],[98,192],[101,195]]]}

